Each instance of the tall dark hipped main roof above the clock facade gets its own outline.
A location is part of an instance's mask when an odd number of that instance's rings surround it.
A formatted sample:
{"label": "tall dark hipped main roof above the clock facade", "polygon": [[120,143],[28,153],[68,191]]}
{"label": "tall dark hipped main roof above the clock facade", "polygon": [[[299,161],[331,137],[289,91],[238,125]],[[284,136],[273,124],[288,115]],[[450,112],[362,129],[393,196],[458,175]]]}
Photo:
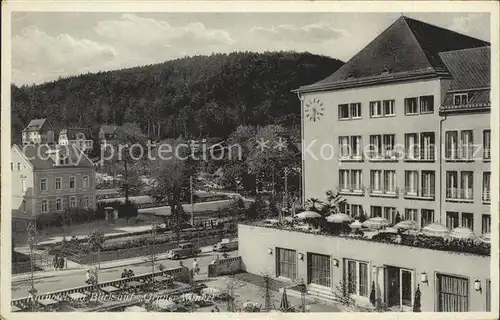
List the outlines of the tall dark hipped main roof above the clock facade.
{"label": "tall dark hipped main roof above the clock facade", "polygon": [[448,76],[440,55],[490,44],[401,16],[335,73],[298,91],[321,91],[417,77]]}

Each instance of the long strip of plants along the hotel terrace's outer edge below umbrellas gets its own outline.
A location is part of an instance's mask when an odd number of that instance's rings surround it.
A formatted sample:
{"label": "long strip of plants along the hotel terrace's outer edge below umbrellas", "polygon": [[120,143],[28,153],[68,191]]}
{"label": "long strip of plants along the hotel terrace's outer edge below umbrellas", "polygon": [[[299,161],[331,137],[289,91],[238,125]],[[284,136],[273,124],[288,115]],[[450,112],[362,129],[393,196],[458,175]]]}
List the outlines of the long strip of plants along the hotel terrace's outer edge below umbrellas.
{"label": "long strip of plants along the hotel terrace's outer edge below umbrellas", "polygon": [[[266,225],[262,221],[245,222],[247,225],[255,225],[262,228],[273,228],[281,230],[290,230],[293,232],[302,233],[313,233],[326,236],[334,237],[351,237],[351,234],[332,234],[324,230],[314,231],[307,229],[299,229],[292,223],[283,224],[278,223],[275,225]],[[400,236],[400,238],[398,237]],[[461,252],[469,253],[480,256],[490,256],[491,255],[491,245],[489,243],[483,243],[474,240],[462,240],[462,239],[444,239],[441,237],[429,237],[425,235],[405,235],[405,234],[394,234],[394,233],[379,233],[374,235],[372,238],[368,237],[357,237],[359,240],[371,241],[371,242],[383,242],[390,243],[394,245],[404,245],[417,248],[431,249],[431,250],[441,250],[450,252]]]}

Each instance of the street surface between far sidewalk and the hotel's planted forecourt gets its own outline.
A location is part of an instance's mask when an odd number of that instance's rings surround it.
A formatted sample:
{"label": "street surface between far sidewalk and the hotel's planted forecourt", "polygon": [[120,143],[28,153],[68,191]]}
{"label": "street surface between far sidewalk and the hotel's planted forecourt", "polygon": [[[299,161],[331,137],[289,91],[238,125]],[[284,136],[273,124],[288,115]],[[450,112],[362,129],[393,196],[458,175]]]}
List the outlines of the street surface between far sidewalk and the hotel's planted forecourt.
{"label": "street surface between far sidewalk and the hotel's planted forecourt", "polygon": [[[215,258],[217,253],[215,252],[207,252],[202,253],[197,257],[199,266],[200,266],[200,274],[202,276],[206,276],[208,265]],[[237,256],[238,252],[233,251],[229,253],[230,256]],[[184,265],[188,268],[193,267],[193,258],[183,259]],[[160,261],[159,261],[160,262]],[[175,268],[179,266],[179,260],[161,260],[161,263],[165,266],[166,269]],[[119,266],[110,269],[104,269],[99,272],[99,281],[110,281],[114,279],[119,279],[121,277],[121,273],[123,269],[132,269],[135,275],[149,273],[151,272],[151,264],[143,263],[140,265],[130,265],[130,266]],[[158,271],[158,269],[155,269]],[[64,271],[63,271],[64,272]],[[75,270],[71,273],[64,273],[59,276],[54,276],[50,278],[42,278],[35,280],[35,288],[39,293],[51,292],[56,290],[68,289],[73,287],[79,287],[84,285],[85,281],[85,269]],[[30,281],[22,281],[22,282],[13,282],[12,283],[12,299],[22,298],[28,296],[28,291],[30,289]]]}

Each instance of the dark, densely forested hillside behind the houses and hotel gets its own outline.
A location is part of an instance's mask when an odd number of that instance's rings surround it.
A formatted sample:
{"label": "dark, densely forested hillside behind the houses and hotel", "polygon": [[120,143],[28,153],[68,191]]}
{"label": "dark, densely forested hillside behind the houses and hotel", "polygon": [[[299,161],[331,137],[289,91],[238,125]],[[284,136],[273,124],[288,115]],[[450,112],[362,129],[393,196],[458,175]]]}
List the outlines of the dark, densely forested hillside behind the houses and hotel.
{"label": "dark, densely forested hillside behind the houses and hotel", "polygon": [[[137,122],[160,138],[227,137],[238,125],[300,123],[292,89],[327,77],[342,62],[296,52],[238,52],[12,85],[14,142],[32,118],[65,126]],[[158,127],[160,131],[158,132]]]}

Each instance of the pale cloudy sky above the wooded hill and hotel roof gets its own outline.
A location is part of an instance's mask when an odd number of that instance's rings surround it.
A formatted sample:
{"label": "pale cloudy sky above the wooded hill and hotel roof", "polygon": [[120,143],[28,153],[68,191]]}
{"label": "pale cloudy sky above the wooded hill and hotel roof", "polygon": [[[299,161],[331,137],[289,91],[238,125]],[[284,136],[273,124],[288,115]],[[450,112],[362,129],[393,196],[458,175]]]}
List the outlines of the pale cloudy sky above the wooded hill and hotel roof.
{"label": "pale cloudy sky above the wooded hill and hotel roof", "polygon": [[[349,60],[402,13],[13,12],[12,82],[198,54],[294,50]],[[490,41],[488,13],[404,13]]]}

